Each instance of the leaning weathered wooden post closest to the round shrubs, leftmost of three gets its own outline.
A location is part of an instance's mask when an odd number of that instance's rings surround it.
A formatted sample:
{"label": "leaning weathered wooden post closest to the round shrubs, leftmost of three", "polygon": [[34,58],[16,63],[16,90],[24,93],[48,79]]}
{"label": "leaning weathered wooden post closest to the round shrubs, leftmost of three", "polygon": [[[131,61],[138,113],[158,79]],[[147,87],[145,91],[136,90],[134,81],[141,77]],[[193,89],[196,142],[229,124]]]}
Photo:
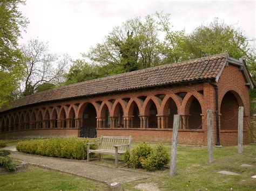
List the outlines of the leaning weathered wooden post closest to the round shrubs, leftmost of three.
{"label": "leaning weathered wooden post closest to the round shrubs, leftmost of three", "polygon": [[171,148],[171,166],[170,175],[174,176],[176,171],[176,158],[177,158],[177,142],[179,130],[179,115],[174,115],[173,129],[172,129],[172,148]]}

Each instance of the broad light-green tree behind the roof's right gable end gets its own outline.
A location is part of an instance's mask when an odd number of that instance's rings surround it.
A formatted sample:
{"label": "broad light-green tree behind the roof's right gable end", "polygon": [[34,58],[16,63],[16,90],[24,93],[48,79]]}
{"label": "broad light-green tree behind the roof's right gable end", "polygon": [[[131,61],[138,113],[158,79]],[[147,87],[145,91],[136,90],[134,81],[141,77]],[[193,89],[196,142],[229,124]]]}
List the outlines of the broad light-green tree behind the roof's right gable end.
{"label": "broad light-green tree behind the roof's right gable end", "polygon": [[215,18],[210,24],[197,27],[189,39],[185,51],[191,58],[228,52],[233,58],[244,58],[256,80],[255,52],[240,29]]}

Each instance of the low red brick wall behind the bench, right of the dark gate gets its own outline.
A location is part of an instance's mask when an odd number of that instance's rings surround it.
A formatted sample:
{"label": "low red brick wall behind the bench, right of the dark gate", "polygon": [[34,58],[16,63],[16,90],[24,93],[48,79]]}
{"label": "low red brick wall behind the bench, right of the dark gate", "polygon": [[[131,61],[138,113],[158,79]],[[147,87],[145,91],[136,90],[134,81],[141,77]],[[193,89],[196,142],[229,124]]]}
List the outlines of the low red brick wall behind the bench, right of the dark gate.
{"label": "low red brick wall behind the bench, right of the dark gate", "polygon": [[[171,129],[97,129],[97,137],[100,136],[132,136],[132,140],[145,142],[171,143]],[[179,130],[178,143],[185,145],[206,146],[204,131]]]}

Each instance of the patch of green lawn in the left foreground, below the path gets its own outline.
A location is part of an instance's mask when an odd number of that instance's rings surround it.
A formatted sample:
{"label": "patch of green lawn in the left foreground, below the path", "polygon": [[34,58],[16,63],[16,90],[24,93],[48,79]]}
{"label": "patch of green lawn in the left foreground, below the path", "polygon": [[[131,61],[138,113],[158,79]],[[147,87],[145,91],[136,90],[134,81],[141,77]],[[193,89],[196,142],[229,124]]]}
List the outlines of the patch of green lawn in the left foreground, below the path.
{"label": "patch of green lawn in the left foreground, below the path", "polygon": [[106,190],[96,183],[78,176],[29,166],[29,171],[0,176],[0,190]]}

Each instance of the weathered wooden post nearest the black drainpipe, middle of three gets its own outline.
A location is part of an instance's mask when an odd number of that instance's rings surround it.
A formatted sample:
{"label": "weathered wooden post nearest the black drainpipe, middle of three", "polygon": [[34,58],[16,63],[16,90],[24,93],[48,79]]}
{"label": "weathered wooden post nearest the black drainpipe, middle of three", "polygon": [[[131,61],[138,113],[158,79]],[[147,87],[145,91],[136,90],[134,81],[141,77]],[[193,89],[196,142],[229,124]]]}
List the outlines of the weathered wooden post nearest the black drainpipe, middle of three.
{"label": "weathered wooden post nearest the black drainpipe, middle of three", "polygon": [[212,151],[212,110],[207,110],[207,142],[208,142],[208,162],[213,162],[213,151]]}

